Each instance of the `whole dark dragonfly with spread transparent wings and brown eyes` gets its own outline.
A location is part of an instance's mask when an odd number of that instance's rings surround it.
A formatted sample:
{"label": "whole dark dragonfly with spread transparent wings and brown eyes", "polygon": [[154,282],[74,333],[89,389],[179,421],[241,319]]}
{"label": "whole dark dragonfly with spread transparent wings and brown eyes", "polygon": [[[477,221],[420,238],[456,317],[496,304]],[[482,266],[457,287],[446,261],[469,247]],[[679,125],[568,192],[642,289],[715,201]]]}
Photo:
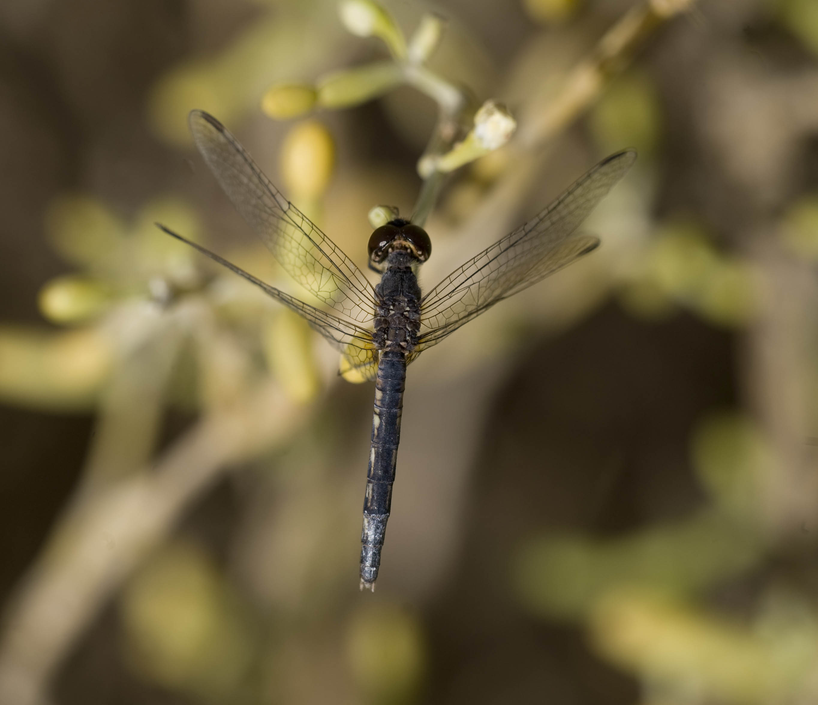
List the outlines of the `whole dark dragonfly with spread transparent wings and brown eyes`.
{"label": "whole dark dragonfly with spread transparent wings and brown eyes", "polygon": [[361,590],[375,590],[398,463],[407,365],[494,304],[536,284],[600,245],[577,229],[625,175],[636,152],[603,159],[546,209],[475,254],[423,293],[416,273],[429,259],[426,231],[403,218],[375,228],[368,243],[372,285],[352,259],[262,173],[236,137],[202,110],[189,118],[213,176],[285,272],[322,308],[296,299],[157,223],[170,236],[258,286],[298,313],[341,352],[341,367],[375,381],[361,537]]}

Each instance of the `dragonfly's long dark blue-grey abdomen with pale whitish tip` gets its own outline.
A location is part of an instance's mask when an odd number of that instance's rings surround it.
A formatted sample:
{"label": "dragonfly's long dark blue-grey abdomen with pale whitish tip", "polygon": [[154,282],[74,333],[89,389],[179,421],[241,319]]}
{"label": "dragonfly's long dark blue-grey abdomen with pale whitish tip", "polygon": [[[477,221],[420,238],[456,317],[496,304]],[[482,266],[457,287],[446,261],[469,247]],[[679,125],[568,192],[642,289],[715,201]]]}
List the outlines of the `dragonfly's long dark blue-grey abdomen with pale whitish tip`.
{"label": "dragonfly's long dark blue-grey abdomen with pale whitish tip", "polygon": [[361,589],[375,590],[384,546],[386,522],[392,505],[392,484],[398,463],[403,388],[407,363],[398,350],[384,350],[375,379],[375,409],[372,415],[372,447],[366,472],[361,532]]}

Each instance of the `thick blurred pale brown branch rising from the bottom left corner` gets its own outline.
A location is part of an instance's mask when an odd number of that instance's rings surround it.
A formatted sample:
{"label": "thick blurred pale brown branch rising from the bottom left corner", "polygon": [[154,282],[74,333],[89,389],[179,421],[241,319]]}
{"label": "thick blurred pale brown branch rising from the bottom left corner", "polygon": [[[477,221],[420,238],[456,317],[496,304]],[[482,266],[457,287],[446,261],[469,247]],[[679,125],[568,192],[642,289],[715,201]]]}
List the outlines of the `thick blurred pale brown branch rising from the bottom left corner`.
{"label": "thick blurred pale brown branch rising from the bottom left corner", "polygon": [[226,469],[275,446],[308,412],[275,384],[201,420],[144,469],[80,492],[20,586],[0,646],[0,702],[46,702],[62,658],[125,577]]}

